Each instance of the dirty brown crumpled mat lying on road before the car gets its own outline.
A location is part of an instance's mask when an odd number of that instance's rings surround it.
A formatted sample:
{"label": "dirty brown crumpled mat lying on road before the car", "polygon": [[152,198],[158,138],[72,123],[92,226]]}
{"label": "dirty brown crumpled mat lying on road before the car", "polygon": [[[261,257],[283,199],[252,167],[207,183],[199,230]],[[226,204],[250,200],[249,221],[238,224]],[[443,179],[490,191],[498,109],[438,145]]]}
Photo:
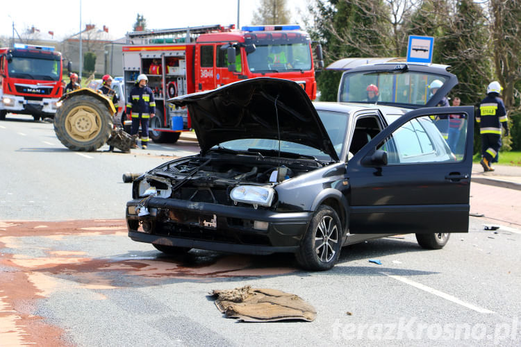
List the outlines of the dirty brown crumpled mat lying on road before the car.
{"label": "dirty brown crumpled mat lying on road before the car", "polygon": [[297,319],[314,321],[315,307],[295,294],[276,289],[251,288],[213,290],[215,305],[226,318],[245,322],[270,322]]}

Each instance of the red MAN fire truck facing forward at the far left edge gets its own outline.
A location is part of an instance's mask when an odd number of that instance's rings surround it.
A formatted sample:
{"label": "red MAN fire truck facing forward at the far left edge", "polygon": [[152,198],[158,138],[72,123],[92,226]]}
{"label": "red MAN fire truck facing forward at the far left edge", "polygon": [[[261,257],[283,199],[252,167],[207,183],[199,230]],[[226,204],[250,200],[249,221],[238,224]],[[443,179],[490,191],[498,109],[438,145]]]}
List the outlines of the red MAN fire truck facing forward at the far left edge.
{"label": "red MAN fire truck facing forward at the far left edge", "polygon": [[62,96],[62,55],[54,47],[0,48],[0,119],[8,112],[54,117]]}

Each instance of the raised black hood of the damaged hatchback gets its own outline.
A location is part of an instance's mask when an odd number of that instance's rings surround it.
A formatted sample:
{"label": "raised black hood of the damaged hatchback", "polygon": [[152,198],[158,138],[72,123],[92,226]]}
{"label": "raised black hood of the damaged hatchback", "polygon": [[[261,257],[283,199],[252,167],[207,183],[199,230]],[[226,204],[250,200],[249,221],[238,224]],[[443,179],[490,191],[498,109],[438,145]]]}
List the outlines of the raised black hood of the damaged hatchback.
{"label": "raised black hood of the damaged hatchback", "polygon": [[280,132],[281,140],[320,149],[338,161],[313,103],[293,81],[252,78],[168,102],[188,106],[203,154],[233,139],[279,139]]}

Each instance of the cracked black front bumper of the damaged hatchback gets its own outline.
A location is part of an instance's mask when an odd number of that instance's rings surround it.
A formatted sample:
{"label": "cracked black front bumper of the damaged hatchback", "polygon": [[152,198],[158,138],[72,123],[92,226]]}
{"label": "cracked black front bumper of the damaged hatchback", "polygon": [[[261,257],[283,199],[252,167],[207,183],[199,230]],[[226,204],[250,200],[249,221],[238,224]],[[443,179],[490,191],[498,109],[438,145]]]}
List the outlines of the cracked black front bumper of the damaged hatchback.
{"label": "cracked black front bumper of the damaged hatchback", "polygon": [[172,198],[126,204],[129,237],[137,242],[247,254],[295,253],[313,212],[273,212]]}

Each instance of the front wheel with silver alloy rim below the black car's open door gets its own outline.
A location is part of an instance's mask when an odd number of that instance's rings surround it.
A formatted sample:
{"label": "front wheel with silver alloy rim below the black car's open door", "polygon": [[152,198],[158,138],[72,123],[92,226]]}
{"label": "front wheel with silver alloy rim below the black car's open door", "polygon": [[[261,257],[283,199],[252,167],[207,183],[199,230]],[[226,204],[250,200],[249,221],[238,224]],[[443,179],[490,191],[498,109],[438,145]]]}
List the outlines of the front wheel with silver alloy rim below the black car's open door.
{"label": "front wheel with silver alloy rim below the black car's open door", "polygon": [[342,224],[333,208],[321,205],[309,223],[299,251],[295,254],[299,266],[311,271],[326,271],[340,257]]}

